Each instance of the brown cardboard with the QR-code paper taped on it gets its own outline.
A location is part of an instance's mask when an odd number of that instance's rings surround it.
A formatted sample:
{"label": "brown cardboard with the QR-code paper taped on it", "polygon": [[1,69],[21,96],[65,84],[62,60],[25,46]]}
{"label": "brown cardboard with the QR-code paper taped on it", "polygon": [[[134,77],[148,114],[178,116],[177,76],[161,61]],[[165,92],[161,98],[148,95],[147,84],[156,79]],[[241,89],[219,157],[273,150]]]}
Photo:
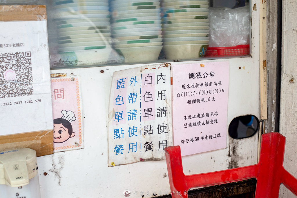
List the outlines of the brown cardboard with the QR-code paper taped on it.
{"label": "brown cardboard with the QR-code paper taped on it", "polygon": [[0,151],[53,153],[44,5],[0,6]]}

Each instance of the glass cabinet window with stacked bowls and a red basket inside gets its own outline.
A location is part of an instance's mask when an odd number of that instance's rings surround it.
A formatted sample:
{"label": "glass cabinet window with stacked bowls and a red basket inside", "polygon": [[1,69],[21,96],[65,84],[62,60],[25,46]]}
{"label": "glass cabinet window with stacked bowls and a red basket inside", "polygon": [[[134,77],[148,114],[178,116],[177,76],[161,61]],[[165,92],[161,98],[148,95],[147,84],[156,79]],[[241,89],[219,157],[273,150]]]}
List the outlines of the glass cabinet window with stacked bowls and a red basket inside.
{"label": "glass cabinet window with stacked bowls and a red basket inside", "polygon": [[15,0],[47,6],[50,66],[249,56],[249,2]]}

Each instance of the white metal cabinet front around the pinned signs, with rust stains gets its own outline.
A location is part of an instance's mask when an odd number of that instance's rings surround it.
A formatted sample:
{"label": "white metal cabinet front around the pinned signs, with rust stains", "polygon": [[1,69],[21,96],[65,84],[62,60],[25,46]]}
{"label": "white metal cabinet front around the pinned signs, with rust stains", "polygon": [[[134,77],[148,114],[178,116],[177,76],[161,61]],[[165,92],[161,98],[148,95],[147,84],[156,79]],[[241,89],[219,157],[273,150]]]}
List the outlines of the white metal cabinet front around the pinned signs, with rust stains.
{"label": "white metal cabinet front around the pinned signs, with rust stains", "polygon": [[[259,3],[251,1],[251,8],[255,8],[254,4],[259,8]],[[260,118],[259,9],[251,12],[252,57],[223,59],[230,64],[228,123],[240,115],[252,114]],[[111,78],[114,71],[136,66],[140,65],[51,71],[81,77],[85,148],[37,158],[43,198],[124,197],[126,189],[131,191],[132,198],[170,193],[165,161],[107,166],[107,108]],[[226,149],[183,157],[184,172],[195,174],[256,164],[257,150],[257,134],[241,140],[228,137]]]}

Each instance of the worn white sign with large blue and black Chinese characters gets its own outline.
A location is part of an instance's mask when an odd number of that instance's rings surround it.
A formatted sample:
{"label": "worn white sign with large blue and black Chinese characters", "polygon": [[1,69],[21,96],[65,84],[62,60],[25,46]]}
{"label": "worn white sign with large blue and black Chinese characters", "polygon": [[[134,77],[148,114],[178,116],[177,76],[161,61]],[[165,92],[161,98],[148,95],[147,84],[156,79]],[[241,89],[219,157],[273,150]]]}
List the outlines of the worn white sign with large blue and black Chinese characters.
{"label": "worn white sign with large blue and black Chinese characters", "polygon": [[170,64],[113,73],[108,108],[108,166],[165,159],[172,146]]}

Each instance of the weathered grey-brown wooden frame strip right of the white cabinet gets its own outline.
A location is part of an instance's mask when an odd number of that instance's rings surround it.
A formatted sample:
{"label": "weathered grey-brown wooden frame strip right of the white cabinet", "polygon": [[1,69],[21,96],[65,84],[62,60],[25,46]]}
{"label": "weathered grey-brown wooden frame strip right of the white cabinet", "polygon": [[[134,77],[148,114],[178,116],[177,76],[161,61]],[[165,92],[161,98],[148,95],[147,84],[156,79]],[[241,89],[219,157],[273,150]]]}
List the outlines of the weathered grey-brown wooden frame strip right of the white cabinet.
{"label": "weathered grey-brown wooden frame strip right of the white cabinet", "polygon": [[267,121],[265,131],[279,132],[282,0],[267,1],[266,41]]}

